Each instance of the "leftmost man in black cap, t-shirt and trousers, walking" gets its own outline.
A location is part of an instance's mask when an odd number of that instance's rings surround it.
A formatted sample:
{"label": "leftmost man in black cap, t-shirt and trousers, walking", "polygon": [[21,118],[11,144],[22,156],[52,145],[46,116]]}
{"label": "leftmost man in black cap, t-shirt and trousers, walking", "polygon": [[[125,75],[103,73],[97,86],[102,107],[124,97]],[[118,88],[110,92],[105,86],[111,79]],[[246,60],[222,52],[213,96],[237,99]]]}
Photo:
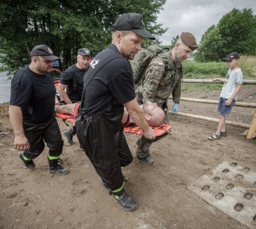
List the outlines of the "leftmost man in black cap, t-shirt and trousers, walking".
{"label": "leftmost man in black cap, t-shirt and trousers, walking", "polygon": [[[69,169],[60,165],[63,140],[54,116],[56,89],[51,76],[53,60],[59,59],[45,44],[36,45],[32,62],[20,69],[11,82],[9,115],[14,130],[14,147],[20,159],[34,169],[33,159],[49,147],[49,171],[66,175]],[[45,143],[44,143],[45,141]]]}

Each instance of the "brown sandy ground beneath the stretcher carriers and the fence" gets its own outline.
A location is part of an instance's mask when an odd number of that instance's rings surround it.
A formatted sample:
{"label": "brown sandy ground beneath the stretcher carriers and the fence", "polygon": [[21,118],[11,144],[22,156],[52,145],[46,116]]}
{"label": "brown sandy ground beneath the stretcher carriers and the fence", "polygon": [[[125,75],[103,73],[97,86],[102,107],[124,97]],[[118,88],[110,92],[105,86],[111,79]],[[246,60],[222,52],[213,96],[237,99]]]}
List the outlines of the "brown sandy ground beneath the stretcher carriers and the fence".
{"label": "brown sandy ground beneath the stretcher carriers and the fence", "polygon": [[[184,97],[218,99],[219,90]],[[255,103],[256,90],[243,86],[240,101]],[[70,173],[48,171],[47,150],[35,159],[33,171],[26,169],[13,147],[14,134],[8,103],[0,104],[0,228],[245,228],[223,211],[188,190],[188,186],[223,160],[256,165],[256,140],[245,139],[244,128],[228,126],[228,137],[208,141],[217,123],[171,115],[172,135],[152,145],[154,164],[136,160],[123,168],[125,189],[138,203],[126,212],[114,202],[84,152],[64,139],[62,159]],[[217,118],[217,105],[181,102],[180,111]],[[251,123],[249,108],[234,107],[228,120]],[[62,132],[66,125],[58,119]],[[127,142],[135,156],[137,137]],[[256,223],[255,223],[256,228]]]}

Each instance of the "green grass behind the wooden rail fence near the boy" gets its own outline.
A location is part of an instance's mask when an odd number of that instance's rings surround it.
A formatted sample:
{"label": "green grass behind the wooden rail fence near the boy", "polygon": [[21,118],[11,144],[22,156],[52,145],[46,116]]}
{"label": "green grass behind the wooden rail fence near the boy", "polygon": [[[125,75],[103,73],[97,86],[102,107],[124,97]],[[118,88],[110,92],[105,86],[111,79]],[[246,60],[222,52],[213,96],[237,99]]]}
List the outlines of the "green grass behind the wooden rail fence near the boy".
{"label": "green grass behind the wooden rail fence near the boy", "polygon": [[[196,62],[186,60],[183,65],[184,79],[214,79],[216,77],[224,78],[228,72],[226,62]],[[241,56],[240,64],[244,79],[256,78],[256,56]],[[221,90],[223,84],[195,84],[182,83],[182,91],[191,92],[198,88],[200,92],[209,92],[211,90]]]}

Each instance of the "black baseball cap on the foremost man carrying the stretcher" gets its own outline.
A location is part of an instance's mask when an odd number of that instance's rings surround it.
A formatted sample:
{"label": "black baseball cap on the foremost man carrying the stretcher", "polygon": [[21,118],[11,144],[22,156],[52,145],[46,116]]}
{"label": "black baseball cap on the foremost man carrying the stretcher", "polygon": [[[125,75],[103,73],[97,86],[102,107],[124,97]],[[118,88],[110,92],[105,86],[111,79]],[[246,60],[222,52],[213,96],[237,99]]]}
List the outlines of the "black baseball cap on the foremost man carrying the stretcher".
{"label": "black baseball cap on the foremost man carrying the stretcher", "polygon": [[135,12],[129,12],[127,14],[122,14],[117,18],[115,24],[112,26],[113,31],[123,31],[123,30],[132,30],[140,37],[148,38],[155,40],[151,33],[146,31],[145,25],[143,23],[142,14],[137,14]]}

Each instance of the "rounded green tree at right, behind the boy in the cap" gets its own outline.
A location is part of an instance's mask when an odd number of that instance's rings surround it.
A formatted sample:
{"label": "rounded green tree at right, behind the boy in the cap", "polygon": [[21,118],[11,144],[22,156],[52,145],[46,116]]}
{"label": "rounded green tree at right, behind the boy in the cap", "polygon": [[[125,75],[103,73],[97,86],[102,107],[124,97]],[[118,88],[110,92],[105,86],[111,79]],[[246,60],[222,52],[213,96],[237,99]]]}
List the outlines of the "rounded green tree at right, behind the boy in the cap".
{"label": "rounded green tree at right, behind the boy in the cap", "polygon": [[220,61],[230,52],[256,54],[256,17],[251,9],[233,9],[217,26],[211,26],[202,36],[196,60]]}

